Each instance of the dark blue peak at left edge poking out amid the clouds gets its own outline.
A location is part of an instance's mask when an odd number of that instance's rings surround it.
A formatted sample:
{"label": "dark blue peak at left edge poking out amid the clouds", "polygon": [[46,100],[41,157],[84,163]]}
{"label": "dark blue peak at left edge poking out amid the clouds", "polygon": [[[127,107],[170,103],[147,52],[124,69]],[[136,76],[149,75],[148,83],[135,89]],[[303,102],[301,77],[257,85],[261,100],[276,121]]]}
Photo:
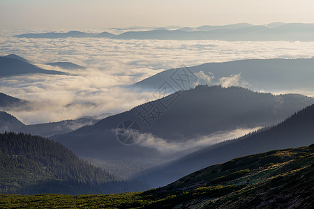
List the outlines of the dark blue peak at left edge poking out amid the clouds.
{"label": "dark blue peak at left edge poking out amid the clouds", "polygon": [[10,75],[22,75],[27,73],[43,73],[50,75],[64,75],[64,72],[54,70],[43,70],[35,65],[31,65],[17,59],[0,56],[0,77]]}

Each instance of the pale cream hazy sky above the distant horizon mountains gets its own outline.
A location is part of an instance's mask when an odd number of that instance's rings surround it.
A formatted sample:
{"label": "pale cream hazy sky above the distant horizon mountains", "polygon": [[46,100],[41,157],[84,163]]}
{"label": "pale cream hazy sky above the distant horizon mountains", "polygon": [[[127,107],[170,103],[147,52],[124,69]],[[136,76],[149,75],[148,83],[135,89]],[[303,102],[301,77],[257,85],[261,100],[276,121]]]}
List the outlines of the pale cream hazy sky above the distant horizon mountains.
{"label": "pale cream hazy sky above the distant horizon mountains", "polygon": [[313,0],[0,0],[0,29],[314,22]]}

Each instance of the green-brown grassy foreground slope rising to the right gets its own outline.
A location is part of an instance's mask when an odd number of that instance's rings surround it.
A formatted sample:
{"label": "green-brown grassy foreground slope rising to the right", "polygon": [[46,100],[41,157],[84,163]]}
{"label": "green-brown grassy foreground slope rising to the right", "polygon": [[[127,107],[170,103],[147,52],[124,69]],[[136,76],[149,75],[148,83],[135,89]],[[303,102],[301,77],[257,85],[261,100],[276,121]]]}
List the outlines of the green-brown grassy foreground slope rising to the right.
{"label": "green-brown grassy foreground slope rising to the right", "polygon": [[311,208],[313,174],[314,145],[239,157],[147,192],[1,194],[0,208]]}

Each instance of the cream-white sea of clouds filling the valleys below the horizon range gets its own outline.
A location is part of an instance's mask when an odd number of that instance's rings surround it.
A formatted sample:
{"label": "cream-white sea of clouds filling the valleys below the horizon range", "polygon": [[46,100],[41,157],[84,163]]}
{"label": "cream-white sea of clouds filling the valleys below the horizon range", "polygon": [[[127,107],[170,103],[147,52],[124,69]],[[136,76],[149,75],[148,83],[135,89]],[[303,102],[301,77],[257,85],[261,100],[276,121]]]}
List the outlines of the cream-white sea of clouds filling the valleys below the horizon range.
{"label": "cream-white sea of clouds filling the valleys below the horizon range", "polygon": [[[0,78],[0,92],[29,100],[31,109],[8,111],[27,124],[119,113],[154,100],[151,91],[130,85],[158,72],[181,66],[240,59],[310,58],[314,42],[227,42],[222,40],[113,40],[109,38],[14,38],[21,33],[65,31],[20,29],[0,31],[0,56],[17,54],[47,70],[69,75],[19,75]],[[80,30],[103,32],[104,29]],[[108,31],[108,30],[107,30]],[[123,30],[122,30],[123,31]],[[112,33],[121,33],[117,29]],[[64,70],[44,63],[69,61],[86,68]],[[210,75],[197,75],[199,84]],[[239,84],[241,75],[220,81]],[[240,82],[239,82],[240,80]],[[230,83],[231,82],[231,83]]]}

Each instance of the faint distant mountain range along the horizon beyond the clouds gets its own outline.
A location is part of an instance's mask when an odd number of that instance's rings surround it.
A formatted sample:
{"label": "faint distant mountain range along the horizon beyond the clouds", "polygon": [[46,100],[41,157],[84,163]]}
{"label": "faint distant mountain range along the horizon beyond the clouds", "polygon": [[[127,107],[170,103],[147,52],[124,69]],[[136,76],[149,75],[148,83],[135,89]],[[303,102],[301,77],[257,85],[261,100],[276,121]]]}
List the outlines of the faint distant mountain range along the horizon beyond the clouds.
{"label": "faint distant mountain range along the horizon beyond the clouds", "polygon": [[[133,29],[133,28],[131,28]],[[144,29],[144,28],[138,28]],[[225,26],[204,25],[196,28],[156,28],[147,31],[127,31],[119,35],[112,33],[84,33],[70,31],[68,33],[24,33],[17,38],[114,38],[114,39],[158,39],[158,40],[229,40],[229,41],[266,41],[266,40],[314,40],[312,34],[314,24],[271,23],[252,25],[247,23]]]}

